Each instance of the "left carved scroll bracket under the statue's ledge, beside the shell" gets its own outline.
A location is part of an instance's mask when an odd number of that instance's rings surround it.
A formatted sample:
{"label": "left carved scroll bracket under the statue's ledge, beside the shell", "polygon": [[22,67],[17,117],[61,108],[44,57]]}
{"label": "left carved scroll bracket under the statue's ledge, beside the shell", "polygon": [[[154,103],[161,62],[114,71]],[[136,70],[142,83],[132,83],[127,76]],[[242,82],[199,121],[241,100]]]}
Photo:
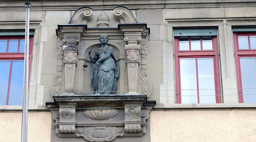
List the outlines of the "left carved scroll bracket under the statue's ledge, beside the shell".
{"label": "left carved scroll bracket under the statue's ledge, beside the shell", "polygon": [[59,133],[76,132],[76,109],[75,105],[60,105]]}

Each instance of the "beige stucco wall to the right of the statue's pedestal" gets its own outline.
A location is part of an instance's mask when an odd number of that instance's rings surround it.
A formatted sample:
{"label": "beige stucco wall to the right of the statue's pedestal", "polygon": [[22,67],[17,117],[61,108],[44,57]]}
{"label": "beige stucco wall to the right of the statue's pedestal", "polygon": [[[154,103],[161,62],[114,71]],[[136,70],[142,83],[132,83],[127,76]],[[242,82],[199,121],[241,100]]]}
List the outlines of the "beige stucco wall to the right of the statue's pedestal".
{"label": "beige stucco wall to the right of the statue's pedestal", "polygon": [[151,111],[151,142],[255,142],[256,109]]}

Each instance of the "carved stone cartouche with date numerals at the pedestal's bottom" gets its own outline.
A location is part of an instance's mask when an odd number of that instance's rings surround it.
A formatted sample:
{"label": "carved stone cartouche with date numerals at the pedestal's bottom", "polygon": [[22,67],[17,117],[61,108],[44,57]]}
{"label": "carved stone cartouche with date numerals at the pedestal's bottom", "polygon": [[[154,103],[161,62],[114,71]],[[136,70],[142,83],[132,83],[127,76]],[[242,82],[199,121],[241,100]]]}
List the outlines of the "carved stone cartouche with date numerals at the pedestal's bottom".
{"label": "carved stone cartouche with date numerals at the pedestal's bottom", "polygon": [[123,127],[112,126],[78,127],[76,131],[76,136],[90,142],[109,142],[123,134]]}

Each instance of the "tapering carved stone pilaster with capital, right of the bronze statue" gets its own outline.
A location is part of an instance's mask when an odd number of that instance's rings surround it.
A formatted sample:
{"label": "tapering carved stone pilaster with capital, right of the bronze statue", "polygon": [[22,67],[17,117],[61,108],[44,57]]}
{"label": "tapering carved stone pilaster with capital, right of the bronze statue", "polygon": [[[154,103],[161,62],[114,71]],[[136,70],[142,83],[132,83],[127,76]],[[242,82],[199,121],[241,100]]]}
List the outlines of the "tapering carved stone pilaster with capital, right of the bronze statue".
{"label": "tapering carved stone pilaster with capital, right of the bronze statue", "polygon": [[137,91],[139,65],[141,63],[141,44],[139,43],[147,37],[149,29],[147,29],[146,24],[119,24],[118,27],[120,27],[127,43],[125,45],[129,86],[127,94],[139,94]]}

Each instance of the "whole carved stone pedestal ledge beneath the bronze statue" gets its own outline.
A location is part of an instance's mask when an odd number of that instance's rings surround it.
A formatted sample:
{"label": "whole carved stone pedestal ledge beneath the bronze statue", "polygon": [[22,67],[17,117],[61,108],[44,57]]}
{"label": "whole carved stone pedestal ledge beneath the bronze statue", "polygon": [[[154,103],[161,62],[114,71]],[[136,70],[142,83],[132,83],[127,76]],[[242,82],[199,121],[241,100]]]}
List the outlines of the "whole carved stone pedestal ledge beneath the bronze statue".
{"label": "whole carved stone pedestal ledge beneath the bronze statue", "polygon": [[91,142],[143,136],[155,104],[147,95],[61,95],[46,102],[58,137]]}

